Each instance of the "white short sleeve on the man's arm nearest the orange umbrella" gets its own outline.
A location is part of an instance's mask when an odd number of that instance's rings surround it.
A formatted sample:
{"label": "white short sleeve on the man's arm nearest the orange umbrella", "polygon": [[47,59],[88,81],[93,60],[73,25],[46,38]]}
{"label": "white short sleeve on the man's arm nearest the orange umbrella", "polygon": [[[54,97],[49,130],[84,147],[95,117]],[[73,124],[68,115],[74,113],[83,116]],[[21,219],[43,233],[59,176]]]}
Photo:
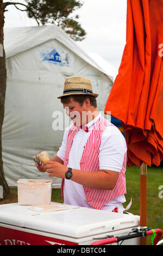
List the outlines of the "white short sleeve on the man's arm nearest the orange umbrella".
{"label": "white short sleeve on the man's arm nearest the orange umbrella", "polygon": [[126,139],[120,130],[116,126],[107,126],[102,134],[99,149],[100,169],[121,172],[126,151]]}

